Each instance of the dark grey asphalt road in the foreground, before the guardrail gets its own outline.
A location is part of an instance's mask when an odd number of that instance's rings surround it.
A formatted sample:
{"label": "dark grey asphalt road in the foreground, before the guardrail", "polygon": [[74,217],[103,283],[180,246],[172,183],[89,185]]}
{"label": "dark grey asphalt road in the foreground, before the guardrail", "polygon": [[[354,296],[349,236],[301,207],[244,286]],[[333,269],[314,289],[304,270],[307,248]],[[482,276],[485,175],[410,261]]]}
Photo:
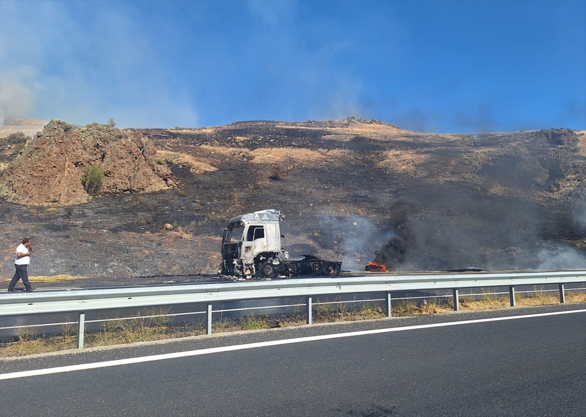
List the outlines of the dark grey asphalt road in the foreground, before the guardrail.
{"label": "dark grey asphalt road in the foreground, before the guardrail", "polygon": [[[9,379],[0,380],[0,415],[584,416],[586,313],[573,311],[585,308],[315,324],[1,360]],[[129,363],[147,355],[164,356]],[[112,360],[121,362],[103,363]],[[72,364],[79,369],[34,375]],[[33,375],[13,374],[24,371]]]}

